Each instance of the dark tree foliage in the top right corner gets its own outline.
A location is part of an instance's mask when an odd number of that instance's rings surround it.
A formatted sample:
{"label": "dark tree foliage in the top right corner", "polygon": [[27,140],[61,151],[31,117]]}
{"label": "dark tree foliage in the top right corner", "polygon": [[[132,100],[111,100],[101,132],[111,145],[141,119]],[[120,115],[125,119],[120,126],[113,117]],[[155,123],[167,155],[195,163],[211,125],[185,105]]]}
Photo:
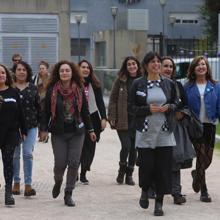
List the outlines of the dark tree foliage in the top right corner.
{"label": "dark tree foliage in the top right corner", "polygon": [[220,13],[220,1],[205,0],[200,11],[205,24],[204,33],[210,41],[216,43],[218,40],[218,14]]}

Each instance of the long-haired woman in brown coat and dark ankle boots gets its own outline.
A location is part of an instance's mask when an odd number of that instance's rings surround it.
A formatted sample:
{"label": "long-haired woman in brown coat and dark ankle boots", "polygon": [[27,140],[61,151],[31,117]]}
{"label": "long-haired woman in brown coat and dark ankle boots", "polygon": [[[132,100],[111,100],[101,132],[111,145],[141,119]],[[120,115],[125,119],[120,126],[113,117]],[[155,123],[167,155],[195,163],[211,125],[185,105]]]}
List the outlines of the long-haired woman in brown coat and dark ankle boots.
{"label": "long-haired woman in brown coat and dark ankle boots", "polygon": [[133,116],[128,113],[128,93],[133,81],[141,76],[140,63],[132,56],[126,57],[118,72],[110,95],[108,106],[108,120],[111,128],[116,129],[120,142],[119,170],[116,181],[135,185],[132,178],[136,163],[135,129],[131,127]]}

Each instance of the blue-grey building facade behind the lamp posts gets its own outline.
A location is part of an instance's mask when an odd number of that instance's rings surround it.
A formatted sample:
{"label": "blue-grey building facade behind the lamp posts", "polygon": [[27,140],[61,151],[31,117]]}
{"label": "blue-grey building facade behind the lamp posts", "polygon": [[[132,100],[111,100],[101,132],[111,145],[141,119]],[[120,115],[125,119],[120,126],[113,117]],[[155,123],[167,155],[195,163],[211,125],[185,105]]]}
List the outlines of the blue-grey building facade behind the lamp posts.
{"label": "blue-grey building facade behind the lamp posts", "polygon": [[[166,53],[172,53],[172,50],[177,50],[175,40],[190,41],[202,37],[202,20],[199,13],[202,4],[202,0],[167,0],[165,5],[161,5],[160,0],[70,0],[71,57],[77,61],[80,55],[80,58],[90,60],[95,66],[113,67],[112,6],[118,8],[115,17],[117,67],[126,55],[137,55],[141,58],[146,50],[159,51],[161,35],[166,40]],[[129,10],[136,10],[136,16],[130,20],[130,15],[124,16],[130,13]],[[145,16],[137,18],[143,10]],[[82,16],[78,28],[76,15]],[[146,24],[139,29],[138,24],[144,20]],[[132,28],[125,25],[129,22]],[[79,32],[80,51],[77,46]]]}

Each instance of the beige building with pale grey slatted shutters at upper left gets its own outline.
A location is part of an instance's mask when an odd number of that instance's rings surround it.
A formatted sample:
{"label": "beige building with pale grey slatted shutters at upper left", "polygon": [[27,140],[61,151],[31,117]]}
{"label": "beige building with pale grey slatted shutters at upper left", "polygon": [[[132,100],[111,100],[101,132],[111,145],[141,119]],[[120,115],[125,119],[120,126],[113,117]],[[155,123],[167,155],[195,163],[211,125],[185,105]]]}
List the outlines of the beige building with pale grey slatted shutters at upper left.
{"label": "beige building with pale grey slatted shutters at upper left", "polygon": [[38,63],[70,59],[69,0],[1,0],[0,62],[12,65],[20,53],[38,71]]}

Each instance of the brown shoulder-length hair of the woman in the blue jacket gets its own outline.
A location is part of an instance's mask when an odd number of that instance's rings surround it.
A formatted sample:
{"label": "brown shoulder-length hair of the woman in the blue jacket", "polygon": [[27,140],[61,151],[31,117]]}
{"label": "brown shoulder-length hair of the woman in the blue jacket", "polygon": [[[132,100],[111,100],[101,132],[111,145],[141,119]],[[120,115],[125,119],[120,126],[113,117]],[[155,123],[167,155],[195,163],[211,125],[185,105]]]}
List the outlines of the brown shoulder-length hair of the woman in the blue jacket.
{"label": "brown shoulder-length hair of the woman in the blue jacket", "polygon": [[216,81],[212,78],[212,72],[208,60],[204,56],[196,56],[190,63],[187,71],[187,78],[189,79],[189,82],[194,83],[196,81],[195,68],[201,60],[204,60],[207,66],[206,80],[216,83]]}

